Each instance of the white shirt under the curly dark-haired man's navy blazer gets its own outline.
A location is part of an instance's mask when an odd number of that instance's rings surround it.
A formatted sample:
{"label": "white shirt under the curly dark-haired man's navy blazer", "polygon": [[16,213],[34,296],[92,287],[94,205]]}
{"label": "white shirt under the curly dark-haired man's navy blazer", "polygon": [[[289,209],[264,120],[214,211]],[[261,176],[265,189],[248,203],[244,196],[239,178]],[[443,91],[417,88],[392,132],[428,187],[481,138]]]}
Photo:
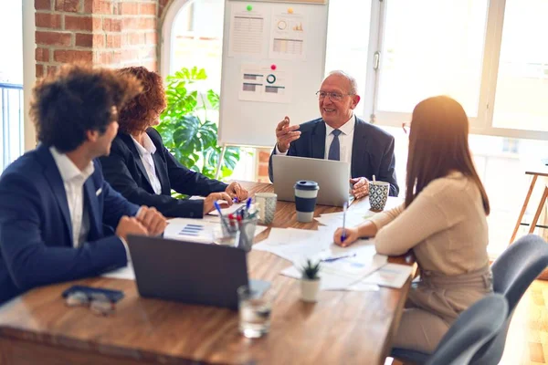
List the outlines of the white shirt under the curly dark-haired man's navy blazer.
{"label": "white shirt under the curly dark-haired man's navy blazer", "polygon": [[83,171],[80,171],[65,153],[60,153],[55,147],[50,147],[49,151],[57,164],[67,193],[68,212],[72,224],[72,245],[79,247],[87,241],[90,232],[90,214],[84,210],[84,183],[95,168],[93,162],[90,162]]}

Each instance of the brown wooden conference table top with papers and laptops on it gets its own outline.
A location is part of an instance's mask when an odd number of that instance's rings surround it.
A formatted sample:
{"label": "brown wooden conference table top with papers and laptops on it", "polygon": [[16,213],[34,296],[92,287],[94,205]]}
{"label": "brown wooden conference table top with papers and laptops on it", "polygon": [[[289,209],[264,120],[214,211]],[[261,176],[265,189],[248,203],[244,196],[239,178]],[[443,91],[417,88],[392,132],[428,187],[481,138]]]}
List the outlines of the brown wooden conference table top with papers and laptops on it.
{"label": "brown wooden conference table top with papers and laptops on it", "polygon": [[[252,193],[273,190],[267,183],[242,184]],[[339,210],[318,206],[316,215]],[[284,202],[272,224],[317,225],[297,223],[294,204]],[[414,265],[410,256],[391,260]],[[248,255],[249,276],[271,281],[278,291],[270,333],[262,339],[238,333],[237,311],[142,298],[131,280],[95,277],[36,288],[1,307],[0,364],[384,363],[410,280],[401,289],[322,291],[318,303],[308,304],[299,299],[299,281],[279,275],[289,265],[266,252]],[[125,297],[114,315],[99,317],[65,306],[61,292],[75,283],[120,289]]]}

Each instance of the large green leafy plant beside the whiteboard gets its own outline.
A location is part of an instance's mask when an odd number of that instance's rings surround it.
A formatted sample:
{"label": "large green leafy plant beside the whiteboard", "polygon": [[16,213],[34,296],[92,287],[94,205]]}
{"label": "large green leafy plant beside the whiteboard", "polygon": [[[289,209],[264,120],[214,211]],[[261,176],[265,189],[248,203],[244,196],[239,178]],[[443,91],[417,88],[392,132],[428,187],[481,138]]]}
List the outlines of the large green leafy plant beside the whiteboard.
{"label": "large green leafy plant beside the whiteboard", "polygon": [[[160,116],[156,130],[165,147],[187,168],[215,177],[222,147],[217,144],[216,122],[208,114],[219,110],[219,96],[212,89],[205,96],[196,87],[205,80],[204,68],[182,68],[167,77],[167,109]],[[221,165],[220,178],[230,176],[239,161],[237,147],[228,147]]]}

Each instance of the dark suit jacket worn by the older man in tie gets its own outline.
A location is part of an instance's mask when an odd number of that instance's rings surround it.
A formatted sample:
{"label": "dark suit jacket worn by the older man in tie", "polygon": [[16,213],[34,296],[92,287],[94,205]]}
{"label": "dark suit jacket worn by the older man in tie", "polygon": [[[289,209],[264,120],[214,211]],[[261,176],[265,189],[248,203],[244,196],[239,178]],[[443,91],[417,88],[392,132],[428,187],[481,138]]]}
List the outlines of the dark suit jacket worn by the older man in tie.
{"label": "dark suit jacket worn by the older man in tie", "polygon": [[[353,131],[351,175],[390,183],[390,195],[397,196],[399,187],[395,179],[394,137],[385,130],[355,117]],[[319,118],[300,124],[300,138],[292,141],[288,156],[325,158],[325,122]],[[269,159],[269,178],[272,174],[272,155]]]}

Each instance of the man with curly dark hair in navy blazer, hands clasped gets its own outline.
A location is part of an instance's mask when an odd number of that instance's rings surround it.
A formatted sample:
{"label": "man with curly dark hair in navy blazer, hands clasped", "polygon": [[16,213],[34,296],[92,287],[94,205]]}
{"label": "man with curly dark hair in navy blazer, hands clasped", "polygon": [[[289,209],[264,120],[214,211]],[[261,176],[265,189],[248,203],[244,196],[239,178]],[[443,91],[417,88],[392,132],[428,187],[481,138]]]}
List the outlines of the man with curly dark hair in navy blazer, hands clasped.
{"label": "man with curly dark hair in navy blazer, hands clasped", "polygon": [[163,232],[163,215],[116,193],[96,161],[111,150],[118,110],[141,89],[129,75],[85,65],[37,83],[31,117],[40,144],[0,177],[0,303],[125,266],[127,235]]}

